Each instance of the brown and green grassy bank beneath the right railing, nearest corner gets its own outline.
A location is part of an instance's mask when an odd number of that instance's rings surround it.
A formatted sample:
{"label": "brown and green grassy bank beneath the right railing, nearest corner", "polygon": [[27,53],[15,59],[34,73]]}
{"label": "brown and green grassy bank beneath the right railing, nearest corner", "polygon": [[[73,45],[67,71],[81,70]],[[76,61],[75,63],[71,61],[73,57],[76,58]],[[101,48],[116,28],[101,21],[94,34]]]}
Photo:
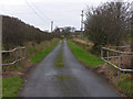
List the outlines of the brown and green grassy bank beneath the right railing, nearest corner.
{"label": "brown and green grassy bank beneath the right railing, nearest corner", "polygon": [[123,97],[133,97],[132,89],[132,80],[131,74],[120,72],[120,76],[117,78],[117,69],[112,67],[111,65],[104,64],[94,70],[104,79],[108,79],[109,84],[112,85],[121,96]]}

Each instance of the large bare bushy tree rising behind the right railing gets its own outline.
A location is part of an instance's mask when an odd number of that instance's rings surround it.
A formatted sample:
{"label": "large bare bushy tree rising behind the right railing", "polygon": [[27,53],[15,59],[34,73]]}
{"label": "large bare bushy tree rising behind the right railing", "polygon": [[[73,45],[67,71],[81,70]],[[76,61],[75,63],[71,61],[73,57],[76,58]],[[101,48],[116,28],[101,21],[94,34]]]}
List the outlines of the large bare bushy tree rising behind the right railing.
{"label": "large bare bushy tree rising behind the right railing", "polygon": [[129,19],[127,2],[106,2],[98,8],[88,8],[85,33],[94,47],[121,45],[126,36]]}

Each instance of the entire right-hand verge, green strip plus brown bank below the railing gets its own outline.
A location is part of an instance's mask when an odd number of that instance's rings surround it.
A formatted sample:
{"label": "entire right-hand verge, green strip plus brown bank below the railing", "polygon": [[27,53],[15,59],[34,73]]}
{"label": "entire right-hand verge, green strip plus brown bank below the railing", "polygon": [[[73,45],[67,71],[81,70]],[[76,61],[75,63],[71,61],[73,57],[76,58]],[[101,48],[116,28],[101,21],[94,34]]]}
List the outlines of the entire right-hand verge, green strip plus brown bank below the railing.
{"label": "entire right-hand verge, green strip plus brown bank below the railing", "polygon": [[[75,55],[75,57],[80,62],[83,62],[85,64],[88,63],[86,65],[89,65],[89,66],[91,66],[90,65],[91,63],[86,62],[86,61],[91,61],[93,63],[99,62],[99,61],[94,61],[94,57],[92,57],[92,59],[90,59],[91,58],[90,55],[84,55],[84,53],[88,53],[88,52],[84,52],[81,47],[84,47],[85,45],[84,46],[82,45],[79,48],[79,46],[78,46],[79,44],[75,45],[70,40],[68,40],[68,44],[69,44],[72,53]],[[105,65],[104,62],[99,62],[99,63],[103,64],[103,66],[100,66],[99,69],[96,69],[98,74],[101,74],[105,79],[108,78],[109,81],[122,94],[122,96],[133,97],[133,88],[132,88],[133,81],[131,80],[131,74],[121,73],[120,77],[117,78],[117,76],[116,76],[117,69],[115,69],[111,65],[104,66]],[[113,63],[115,63],[115,62],[113,61]],[[95,65],[95,66],[98,66],[98,65]],[[93,68],[95,68],[95,67],[93,66]]]}

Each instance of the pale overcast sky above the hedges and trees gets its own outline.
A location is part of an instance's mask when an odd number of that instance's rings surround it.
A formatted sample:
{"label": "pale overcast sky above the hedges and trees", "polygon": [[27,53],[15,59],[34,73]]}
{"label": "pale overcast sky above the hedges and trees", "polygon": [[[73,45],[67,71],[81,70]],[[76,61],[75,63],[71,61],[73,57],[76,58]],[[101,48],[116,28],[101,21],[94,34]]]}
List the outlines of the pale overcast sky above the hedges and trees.
{"label": "pale overcast sky above the hedges and trees", "polygon": [[50,31],[51,21],[54,28],[74,26],[79,30],[81,10],[106,1],[111,0],[0,0],[0,14],[19,18],[41,30]]}

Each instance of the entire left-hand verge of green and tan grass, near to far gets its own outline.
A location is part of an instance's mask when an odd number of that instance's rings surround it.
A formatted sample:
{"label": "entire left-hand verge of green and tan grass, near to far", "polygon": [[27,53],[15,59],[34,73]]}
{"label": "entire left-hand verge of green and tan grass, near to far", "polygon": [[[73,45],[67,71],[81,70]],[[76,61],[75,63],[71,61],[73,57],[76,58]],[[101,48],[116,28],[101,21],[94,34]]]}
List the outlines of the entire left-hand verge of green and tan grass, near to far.
{"label": "entire left-hand verge of green and tan grass, near to far", "polygon": [[57,45],[59,40],[44,41],[40,44],[28,43],[27,44],[27,58],[21,61],[16,68],[16,65],[8,66],[3,72],[2,79],[2,94],[3,97],[17,97],[22,85],[23,79],[21,78],[33,67],[33,64],[40,63]]}

